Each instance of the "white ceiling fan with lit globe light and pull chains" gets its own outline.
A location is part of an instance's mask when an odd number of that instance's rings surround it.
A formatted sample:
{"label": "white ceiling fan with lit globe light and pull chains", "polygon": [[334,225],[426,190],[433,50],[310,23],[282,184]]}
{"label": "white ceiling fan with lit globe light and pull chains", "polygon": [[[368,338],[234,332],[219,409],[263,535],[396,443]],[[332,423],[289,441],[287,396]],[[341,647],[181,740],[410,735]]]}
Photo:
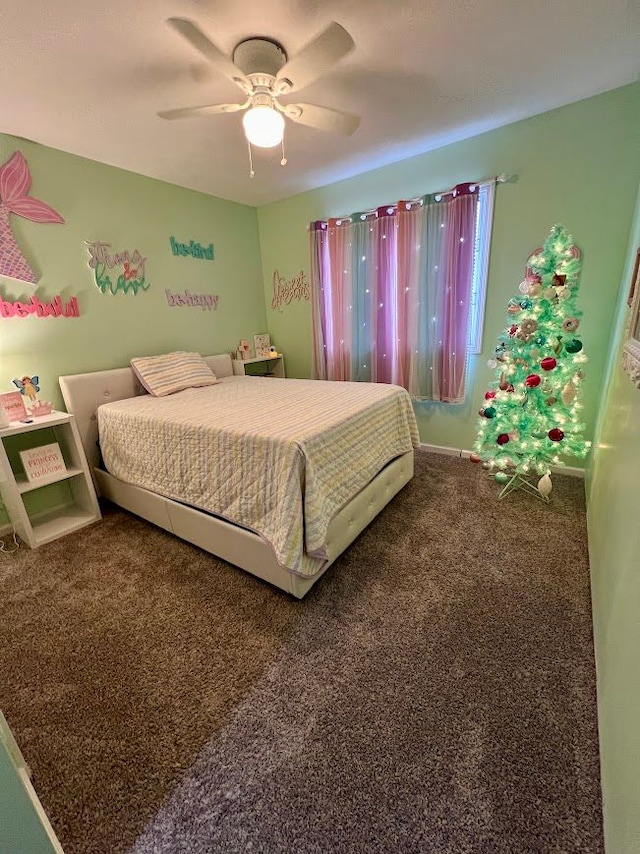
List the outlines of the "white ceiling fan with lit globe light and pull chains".
{"label": "white ceiling fan with lit globe light and pull chains", "polygon": [[[281,95],[308,86],[355,47],[349,33],[335,21],[291,59],[282,45],[264,37],[241,41],[230,58],[193,21],[169,18],[167,23],[217,71],[239,86],[246,99],[239,104],[163,110],[158,113],[160,118],[185,119],[246,110],[242,120],[245,135],[250,144],[261,148],[282,143],[285,116],[299,124],[344,136],[350,136],[360,124],[360,117],[352,113],[317,104],[281,104],[279,101]],[[281,162],[282,165],[286,163],[284,153]]]}

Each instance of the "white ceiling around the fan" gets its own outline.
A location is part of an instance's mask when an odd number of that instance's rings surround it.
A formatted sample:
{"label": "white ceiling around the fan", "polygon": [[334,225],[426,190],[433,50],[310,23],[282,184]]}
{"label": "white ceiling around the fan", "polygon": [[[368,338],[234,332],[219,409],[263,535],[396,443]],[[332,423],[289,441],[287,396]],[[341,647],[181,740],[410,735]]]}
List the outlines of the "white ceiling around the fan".
{"label": "white ceiling around the fan", "polygon": [[[289,102],[358,113],[348,138],[287,122],[254,150],[242,114],[158,110],[242,100],[165,23],[225,53],[266,36],[295,55],[330,21],[356,47]],[[0,130],[261,205],[622,86],[640,70],[640,0],[2,0]],[[239,97],[240,96],[240,97]]]}

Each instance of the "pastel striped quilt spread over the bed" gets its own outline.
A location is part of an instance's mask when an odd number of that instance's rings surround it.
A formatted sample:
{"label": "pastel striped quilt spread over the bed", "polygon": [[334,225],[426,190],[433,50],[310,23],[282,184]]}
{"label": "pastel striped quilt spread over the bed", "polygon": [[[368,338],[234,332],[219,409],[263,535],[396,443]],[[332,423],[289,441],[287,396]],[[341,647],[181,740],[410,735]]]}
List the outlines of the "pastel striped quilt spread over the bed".
{"label": "pastel striped quilt spread over the bed", "polygon": [[107,470],[255,531],[292,572],[326,560],[329,523],[419,445],[399,386],[228,377],[98,409]]}

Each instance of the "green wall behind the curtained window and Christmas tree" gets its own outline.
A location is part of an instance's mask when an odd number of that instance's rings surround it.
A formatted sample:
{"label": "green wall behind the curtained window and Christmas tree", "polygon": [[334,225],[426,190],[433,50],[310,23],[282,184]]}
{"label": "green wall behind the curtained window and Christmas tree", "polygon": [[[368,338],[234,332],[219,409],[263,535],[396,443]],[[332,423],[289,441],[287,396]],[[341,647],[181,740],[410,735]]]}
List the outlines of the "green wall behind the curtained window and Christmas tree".
{"label": "green wall behind the curtained window and Christmas tree", "polygon": [[273,311],[272,277],[276,269],[286,279],[301,269],[308,277],[311,220],[506,172],[517,180],[496,193],[484,347],[471,362],[467,402],[416,405],[420,435],[423,442],[471,448],[476,413],[493,377],[486,362],[505,327],[507,301],[518,292],[527,256],[557,222],[584,255],[579,305],[590,364],[583,400],[592,435],[640,176],[639,142],[640,84],[634,84],[260,208],[267,323],[288,374],[311,375],[311,308],[292,301]]}

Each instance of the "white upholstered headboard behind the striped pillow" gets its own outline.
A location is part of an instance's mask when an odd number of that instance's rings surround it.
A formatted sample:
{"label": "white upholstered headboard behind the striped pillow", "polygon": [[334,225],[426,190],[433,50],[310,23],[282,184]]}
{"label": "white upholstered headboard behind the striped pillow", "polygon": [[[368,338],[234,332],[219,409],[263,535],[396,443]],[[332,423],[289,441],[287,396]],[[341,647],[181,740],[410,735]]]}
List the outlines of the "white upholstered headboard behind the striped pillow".
{"label": "white upholstered headboard behind the striped pillow", "polygon": [[[205,356],[217,377],[233,375],[233,364],[228,353]],[[93,371],[88,374],[70,374],[60,377],[60,388],[64,405],[76,420],[84,452],[93,474],[98,465],[98,416],[96,411],[103,403],[125,400],[146,394],[132,368],[114,368],[110,371]]]}

